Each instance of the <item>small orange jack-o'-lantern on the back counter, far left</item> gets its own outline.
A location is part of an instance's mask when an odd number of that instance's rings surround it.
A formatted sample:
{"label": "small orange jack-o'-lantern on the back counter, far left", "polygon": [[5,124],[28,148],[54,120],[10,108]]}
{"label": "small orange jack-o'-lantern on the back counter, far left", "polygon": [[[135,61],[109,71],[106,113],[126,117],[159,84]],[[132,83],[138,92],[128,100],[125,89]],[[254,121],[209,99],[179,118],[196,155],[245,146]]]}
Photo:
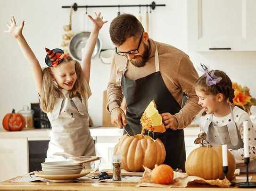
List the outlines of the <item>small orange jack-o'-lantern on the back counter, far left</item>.
{"label": "small orange jack-o'-lantern on the back counter, far left", "polygon": [[3,128],[8,131],[18,131],[22,130],[25,127],[25,119],[21,114],[15,113],[15,110],[12,110],[12,113],[6,114],[3,118]]}

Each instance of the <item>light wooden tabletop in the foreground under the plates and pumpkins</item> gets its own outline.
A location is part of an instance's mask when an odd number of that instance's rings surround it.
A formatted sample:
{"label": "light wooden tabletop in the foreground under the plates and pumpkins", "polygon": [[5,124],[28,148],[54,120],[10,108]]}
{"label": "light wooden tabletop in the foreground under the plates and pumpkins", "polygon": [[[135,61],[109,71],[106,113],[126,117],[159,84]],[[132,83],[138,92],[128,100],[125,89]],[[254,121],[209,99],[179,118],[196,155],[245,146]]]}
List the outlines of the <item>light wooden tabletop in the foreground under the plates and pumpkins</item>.
{"label": "light wooden tabletop in the foreground under the plates and pumpkins", "polygon": [[[245,175],[241,175],[245,176]],[[250,174],[252,177],[251,182],[256,182],[256,173]],[[14,178],[12,178],[14,179]],[[12,180],[9,179],[9,180]],[[238,187],[230,188],[219,188],[213,187],[206,184],[203,185],[190,185],[186,188],[157,188],[157,187],[135,187],[137,183],[44,183],[44,182],[33,182],[33,183],[11,183],[8,181],[0,182],[0,190],[11,190],[11,191],[240,191],[245,190]],[[255,188],[246,189],[246,191],[255,191]]]}

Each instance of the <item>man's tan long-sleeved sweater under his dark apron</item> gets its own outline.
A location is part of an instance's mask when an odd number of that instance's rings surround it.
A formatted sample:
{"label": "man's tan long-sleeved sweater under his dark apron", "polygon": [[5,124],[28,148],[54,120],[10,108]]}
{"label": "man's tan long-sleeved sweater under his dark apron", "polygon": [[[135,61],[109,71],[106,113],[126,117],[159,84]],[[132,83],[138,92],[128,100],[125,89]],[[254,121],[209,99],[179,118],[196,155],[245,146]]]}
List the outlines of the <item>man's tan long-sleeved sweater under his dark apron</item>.
{"label": "man's tan long-sleeved sweater under his dark apron", "polygon": [[[149,61],[142,68],[135,67],[129,62],[125,77],[136,80],[156,72],[154,54],[157,46],[160,74],[167,89],[180,105],[182,105],[183,92],[188,96],[185,106],[179,113],[174,115],[179,123],[178,129],[183,129],[193,121],[201,109],[194,90],[198,73],[190,61],[189,56],[181,50],[152,39],[149,39],[149,43],[151,47]],[[107,109],[110,112],[114,108],[120,107],[124,97],[121,90],[121,77],[126,61],[125,56],[115,54],[111,64],[110,80],[107,85]]]}

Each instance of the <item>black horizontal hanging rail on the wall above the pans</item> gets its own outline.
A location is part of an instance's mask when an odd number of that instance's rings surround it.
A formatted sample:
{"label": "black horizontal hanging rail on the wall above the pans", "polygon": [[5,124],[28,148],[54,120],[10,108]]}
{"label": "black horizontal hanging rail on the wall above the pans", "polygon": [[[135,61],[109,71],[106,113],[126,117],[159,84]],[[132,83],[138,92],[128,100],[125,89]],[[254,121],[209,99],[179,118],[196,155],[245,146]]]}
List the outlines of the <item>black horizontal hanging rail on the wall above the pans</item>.
{"label": "black horizontal hanging rail on the wall above the pans", "polygon": [[[150,7],[152,10],[154,10],[156,7],[165,7],[165,4],[156,4],[155,1],[153,1],[151,4],[144,4],[144,5],[84,5],[84,6],[78,6],[76,3],[72,6],[74,8],[74,11],[77,10],[77,8],[122,8],[122,7]],[[61,8],[71,8],[71,6],[62,6]]]}

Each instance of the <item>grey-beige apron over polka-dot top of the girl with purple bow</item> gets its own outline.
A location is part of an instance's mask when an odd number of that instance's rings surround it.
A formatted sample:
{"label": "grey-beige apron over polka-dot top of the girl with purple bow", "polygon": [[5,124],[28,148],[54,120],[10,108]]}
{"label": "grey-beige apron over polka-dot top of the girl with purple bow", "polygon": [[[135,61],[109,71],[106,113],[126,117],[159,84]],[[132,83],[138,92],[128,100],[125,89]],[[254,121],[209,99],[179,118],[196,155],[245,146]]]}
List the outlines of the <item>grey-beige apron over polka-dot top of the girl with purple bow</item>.
{"label": "grey-beige apron over polka-dot top of the girl with purple bow", "polygon": [[[206,132],[207,143],[211,144],[212,146],[227,145],[228,149],[237,150],[243,148],[244,144],[239,136],[239,130],[236,126],[231,106],[230,110],[231,119],[228,120],[230,123],[224,126],[216,127],[212,123],[212,114],[206,119],[203,131]],[[236,164],[236,168],[239,168],[240,172],[246,172],[246,166],[244,163]],[[250,161],[249,172],[256,172],[256,160]]]}

